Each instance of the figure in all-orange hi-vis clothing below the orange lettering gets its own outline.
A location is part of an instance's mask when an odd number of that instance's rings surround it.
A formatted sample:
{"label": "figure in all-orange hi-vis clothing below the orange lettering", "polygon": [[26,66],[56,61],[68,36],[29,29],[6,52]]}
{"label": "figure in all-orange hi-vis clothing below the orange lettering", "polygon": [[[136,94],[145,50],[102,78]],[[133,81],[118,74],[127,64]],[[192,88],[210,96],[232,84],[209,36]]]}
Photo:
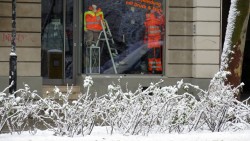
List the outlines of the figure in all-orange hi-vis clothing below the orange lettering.
{"label": "figure in all-orange hi-vis clothing below the orange lettering", "polygon": [[147,53],[148,72],[162,73],[162,28],[164,20],[154,10],[146,13],[144,43],[147,44],[149,51]]}

